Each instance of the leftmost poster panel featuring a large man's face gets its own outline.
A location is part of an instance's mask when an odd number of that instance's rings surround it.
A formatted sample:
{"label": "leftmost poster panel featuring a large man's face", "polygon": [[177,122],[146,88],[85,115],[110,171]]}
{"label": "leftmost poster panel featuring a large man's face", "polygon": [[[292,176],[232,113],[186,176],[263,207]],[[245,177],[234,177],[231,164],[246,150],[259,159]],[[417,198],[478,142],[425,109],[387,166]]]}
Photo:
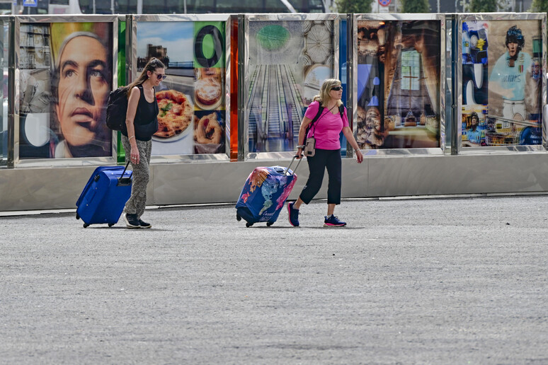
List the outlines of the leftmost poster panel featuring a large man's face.
{"label": "leftmost poster panel featuring a large man's face", "polygon": [[112,156],[113,23],[21,23],[19,158]]}

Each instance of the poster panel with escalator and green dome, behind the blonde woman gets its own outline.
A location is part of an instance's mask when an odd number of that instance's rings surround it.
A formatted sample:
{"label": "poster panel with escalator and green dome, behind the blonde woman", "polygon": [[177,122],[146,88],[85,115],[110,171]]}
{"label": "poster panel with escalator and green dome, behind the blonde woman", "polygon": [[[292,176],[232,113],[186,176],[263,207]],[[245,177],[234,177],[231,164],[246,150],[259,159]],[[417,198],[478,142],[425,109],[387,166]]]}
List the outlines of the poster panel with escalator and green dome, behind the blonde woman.
{"label": "poster panel with escalator and green dome, behind the blonde woman", "polygon": [[249,21],[248,152],[294,151],[321,83],[333,78],[334,21]]}

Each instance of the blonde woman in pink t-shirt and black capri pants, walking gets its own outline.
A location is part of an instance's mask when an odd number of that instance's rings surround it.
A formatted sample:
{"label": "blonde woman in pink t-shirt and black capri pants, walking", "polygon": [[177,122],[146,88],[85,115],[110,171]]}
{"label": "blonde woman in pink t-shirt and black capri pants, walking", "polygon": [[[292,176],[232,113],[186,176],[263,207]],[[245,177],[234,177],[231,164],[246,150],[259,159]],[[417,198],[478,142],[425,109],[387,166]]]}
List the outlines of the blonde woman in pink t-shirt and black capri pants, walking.
{"label": "blonde woman in pink t-shirt and black capri pants, walking", "polygon": [[[314,96],[314,101],[308,106],[307,112],[304,113],[302,118],[299,129],[297,158],[302,158],[304,141],[310,137],[316,139],[316,153],[314,156],[307,156],[310,174],[307,184],[304,185],[299,195],[299,199],[296,202],[287,203],[289,221],[294,227],[299,226],[299,209],[302,203],[308,204],[319,192],[326,169],[329,184],[327,187],[327,216],[324,220],[324,226],[346,226],[345,222],[340,221],[333,214],[335,206],[341,204],[341,142],[339,141],[341,132],[355,150],[358,163],[363,161],[363,154],[354,139],[352,129],[348,126],[346,108],[341,101],[342,96],[341,81],[327,79],[321,84],[320,94]],[[318,115],[320,107],[323,110]],[[309,128],[307,134],[307,129],[316,115],[318,115],[318,118]]]}

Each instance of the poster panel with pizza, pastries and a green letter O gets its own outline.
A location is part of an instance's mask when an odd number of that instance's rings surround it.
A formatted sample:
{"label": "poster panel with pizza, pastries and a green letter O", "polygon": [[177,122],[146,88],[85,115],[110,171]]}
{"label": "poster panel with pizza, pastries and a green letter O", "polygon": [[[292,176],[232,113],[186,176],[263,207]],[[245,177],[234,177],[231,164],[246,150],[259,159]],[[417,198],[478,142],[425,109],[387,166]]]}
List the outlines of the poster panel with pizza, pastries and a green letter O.
{"label": "poster panel with pizza, pastries and a green letter O", "polygon": [[136,76],[151,57],[166,65],[152,155],[226,153],[224,43],[221,21],[137,22]]}

